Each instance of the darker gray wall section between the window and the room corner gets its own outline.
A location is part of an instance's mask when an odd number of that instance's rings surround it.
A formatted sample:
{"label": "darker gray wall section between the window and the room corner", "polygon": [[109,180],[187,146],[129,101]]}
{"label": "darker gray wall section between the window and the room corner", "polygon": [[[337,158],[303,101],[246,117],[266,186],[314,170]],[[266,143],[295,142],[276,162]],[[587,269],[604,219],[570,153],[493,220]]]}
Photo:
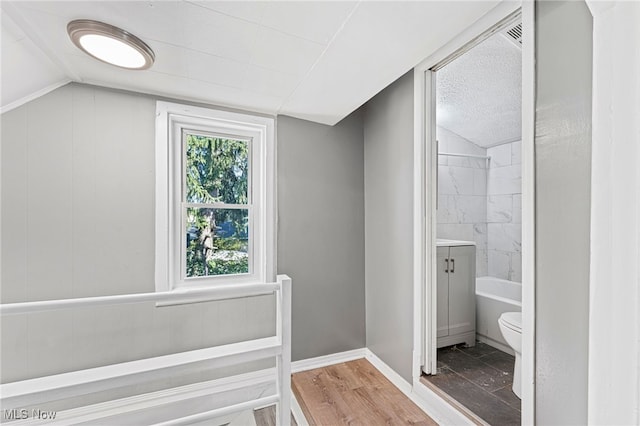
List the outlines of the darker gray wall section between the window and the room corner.
{"label": "darker gray wall section between the window and the room corner", "polygon": [[362,114],[278,117],[278,271],[293,278],[293,360],[365,346]]}

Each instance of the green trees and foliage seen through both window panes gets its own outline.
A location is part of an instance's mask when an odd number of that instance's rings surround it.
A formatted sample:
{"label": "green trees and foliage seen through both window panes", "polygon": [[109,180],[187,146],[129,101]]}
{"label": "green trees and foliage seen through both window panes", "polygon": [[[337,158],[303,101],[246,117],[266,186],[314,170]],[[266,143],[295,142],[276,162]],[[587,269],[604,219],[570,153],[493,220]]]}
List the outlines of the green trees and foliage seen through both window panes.
{"label": "green trees and foliage seen through both window panes", "polygon": [[249,142],[186,133],[185,145],[186,276],[248,273]]}

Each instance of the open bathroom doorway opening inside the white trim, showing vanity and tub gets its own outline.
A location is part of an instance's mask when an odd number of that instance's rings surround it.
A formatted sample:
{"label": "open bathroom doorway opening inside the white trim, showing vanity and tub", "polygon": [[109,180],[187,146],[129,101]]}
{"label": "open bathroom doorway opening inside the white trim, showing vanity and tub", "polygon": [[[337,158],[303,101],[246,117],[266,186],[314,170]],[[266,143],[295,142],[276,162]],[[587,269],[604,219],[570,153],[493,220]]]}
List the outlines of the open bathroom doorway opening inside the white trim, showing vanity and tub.
{"label": "open bathroom doorway opening inside the white trim, showing vanity and tub", "polygon": [[519,19],[432,68],[437,364],[422,381],[489,424],[520,423],[521,71]]}

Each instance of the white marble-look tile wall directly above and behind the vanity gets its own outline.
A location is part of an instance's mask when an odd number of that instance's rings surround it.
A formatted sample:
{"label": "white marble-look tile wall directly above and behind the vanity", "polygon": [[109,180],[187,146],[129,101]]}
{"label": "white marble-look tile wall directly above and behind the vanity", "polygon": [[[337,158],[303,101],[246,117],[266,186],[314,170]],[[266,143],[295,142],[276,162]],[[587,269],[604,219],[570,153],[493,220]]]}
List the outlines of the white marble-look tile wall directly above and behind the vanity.
{"label": "white marble-look tile wall directly above and behind the vanity", "polygon": [[[487,150],[438,127],[440,153],[486,156]],[[509,162],[511,159],[509,158]],[[475,241],[476,276],[488,273],[487,162],[438,156],[437,237]]]}

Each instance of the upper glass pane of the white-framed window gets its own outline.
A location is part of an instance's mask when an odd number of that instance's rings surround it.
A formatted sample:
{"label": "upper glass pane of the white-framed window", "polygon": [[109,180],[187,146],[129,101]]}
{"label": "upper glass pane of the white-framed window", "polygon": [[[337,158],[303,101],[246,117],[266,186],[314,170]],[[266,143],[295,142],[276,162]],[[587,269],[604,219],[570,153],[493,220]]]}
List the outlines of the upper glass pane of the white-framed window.
{"label": "upper glass pane of the white-framed window", "polygon": [[247,204],[249,142],[186,134],[186,201]]}

